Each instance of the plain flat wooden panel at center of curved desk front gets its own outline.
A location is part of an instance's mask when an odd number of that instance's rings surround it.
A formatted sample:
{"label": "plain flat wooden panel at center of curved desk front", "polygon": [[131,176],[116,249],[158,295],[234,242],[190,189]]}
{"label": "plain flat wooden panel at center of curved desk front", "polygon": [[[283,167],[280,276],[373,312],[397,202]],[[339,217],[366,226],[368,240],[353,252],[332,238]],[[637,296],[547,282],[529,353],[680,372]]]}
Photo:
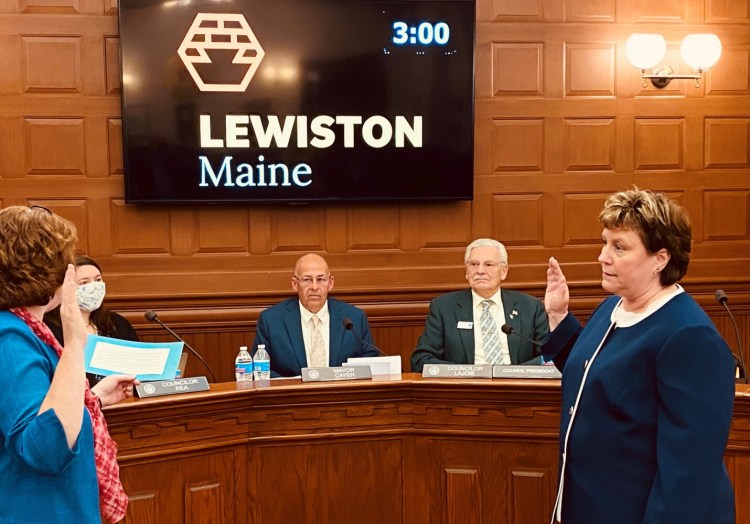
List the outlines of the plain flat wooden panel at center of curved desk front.
{"label": "plain flat wooden panel at center of curved desk front", "polygon": [[258,446],[262,473],[250,498],[260,504],[250,522],[402,521],[400,440],[326,440]]}

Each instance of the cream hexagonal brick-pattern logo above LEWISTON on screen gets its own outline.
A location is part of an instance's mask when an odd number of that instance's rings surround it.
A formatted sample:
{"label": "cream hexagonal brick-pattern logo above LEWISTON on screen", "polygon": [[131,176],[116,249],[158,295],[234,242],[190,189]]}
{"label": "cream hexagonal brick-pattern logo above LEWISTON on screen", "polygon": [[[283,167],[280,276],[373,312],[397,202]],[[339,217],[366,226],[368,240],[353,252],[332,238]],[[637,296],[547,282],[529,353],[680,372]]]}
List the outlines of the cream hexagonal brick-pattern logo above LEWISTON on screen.
{"label": "cream hexagonal brick-pattern logo above LEWISTON on screen", "polygon": [[[209,54],[235,50],[233,67],[246,68],[239,83],[210,83],[201,77],[198,64],[211,64]],[[245,17],[228,13],[198,13],[177,50],[182,62],[201,91],[243,92],[265,56]]]}

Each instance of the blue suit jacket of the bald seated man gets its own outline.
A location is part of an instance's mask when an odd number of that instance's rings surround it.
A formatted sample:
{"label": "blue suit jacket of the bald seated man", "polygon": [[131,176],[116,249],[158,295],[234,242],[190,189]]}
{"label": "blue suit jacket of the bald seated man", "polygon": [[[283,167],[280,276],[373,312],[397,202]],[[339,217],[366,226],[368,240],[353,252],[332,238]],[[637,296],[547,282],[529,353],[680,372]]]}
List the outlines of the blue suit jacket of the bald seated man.
{"label": "blue suit jacket of the bald seated man", "polygon": [[[297,297],[289,298],[260,314],[258,330],[253,341],[253,353],[258,344],[265,344],[271,357],[271,377],[295,377],[307,367],[305,342],[302,337],[302,317]],[[329,366],[340,366],[349,357],[376,357],[379,353],[368,346],[373,344],[367,315],[361,309],[328,298],[330,314]],[[344,319],[352,321],[353,333],[344,329]],[[356,335],[356,336],[355,336]],[[367,342],[363,344],[357,337]]]}

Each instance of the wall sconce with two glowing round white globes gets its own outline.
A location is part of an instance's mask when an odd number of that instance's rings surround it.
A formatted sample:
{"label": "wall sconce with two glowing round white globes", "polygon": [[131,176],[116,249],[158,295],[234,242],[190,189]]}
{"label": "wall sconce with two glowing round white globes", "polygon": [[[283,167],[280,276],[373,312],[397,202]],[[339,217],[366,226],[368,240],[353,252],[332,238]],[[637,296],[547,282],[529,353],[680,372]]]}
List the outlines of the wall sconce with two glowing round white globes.
{"label": "wall sconce with two glowing round white globes", "polygon": [[625,43],[628,61],[641,70],[643,87],[646,87],[646,79],[649,79],[654,87],[661,89],[676,79],[694,79],[695,87],[699,87],[703,72],[711,69],[721,56],[721,40],[709,33],[685,37],[680,46],[680,55],[695,71],[696,74],[692,75],[676,75],[668,65],[657,68],[666,53],[667,41],[662,35],[633,33]]}

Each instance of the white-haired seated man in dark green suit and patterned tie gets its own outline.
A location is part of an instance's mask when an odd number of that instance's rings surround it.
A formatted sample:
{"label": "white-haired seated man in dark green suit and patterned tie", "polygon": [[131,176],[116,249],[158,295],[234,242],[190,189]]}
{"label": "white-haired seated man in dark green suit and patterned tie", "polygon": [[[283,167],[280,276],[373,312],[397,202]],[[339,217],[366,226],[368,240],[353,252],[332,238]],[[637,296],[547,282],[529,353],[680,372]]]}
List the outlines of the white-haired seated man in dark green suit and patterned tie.
{"label": "white-haired seated man in dark green suit and patterned tie", "polygon": [[427,321],[411,356],[411,369],[425,364],[540,364],[531,342],[502,332],[543,341],[549,332],[542,302],[525,293],[502,289],[508,254],[500,242],[475,240],[464,256],[470,289],[447,293],[430,303]]}

